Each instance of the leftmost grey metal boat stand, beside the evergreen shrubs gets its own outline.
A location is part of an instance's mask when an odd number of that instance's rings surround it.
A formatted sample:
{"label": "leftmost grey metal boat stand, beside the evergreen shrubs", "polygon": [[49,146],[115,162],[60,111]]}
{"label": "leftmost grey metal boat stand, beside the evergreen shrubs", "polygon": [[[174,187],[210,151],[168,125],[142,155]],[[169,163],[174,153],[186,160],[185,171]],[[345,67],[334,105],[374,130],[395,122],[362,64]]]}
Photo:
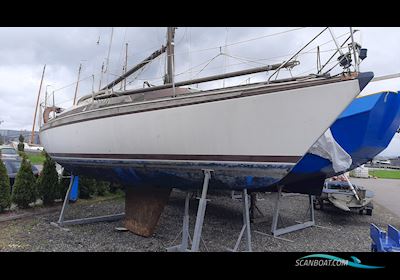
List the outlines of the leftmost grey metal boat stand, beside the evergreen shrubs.
{"label": "leftmost grey metal boat stand, beside the evergreen shrubs", "polygon": [[65,194],[63,206],[61,208],[60,217],[58,221],[51,222],[50,224],[56,227],[64,227],[66,225],[81,225],[81,224],[90,224],[90,223],[97,223],[97,222],[110,222],[120,220],[125,217],[125,213],[114,214],[114,215],[106,215],[106,216],[97,216],[97,217],[90,217],[90,218],[81,218],[81,219],[74,219],[74,220],[64,220],[65,211],[68,208],[69,196],[71,193],[72,185],[74,182],[74,176],[71,175],[71,180],[69,183],[69,187],[67,193]]}

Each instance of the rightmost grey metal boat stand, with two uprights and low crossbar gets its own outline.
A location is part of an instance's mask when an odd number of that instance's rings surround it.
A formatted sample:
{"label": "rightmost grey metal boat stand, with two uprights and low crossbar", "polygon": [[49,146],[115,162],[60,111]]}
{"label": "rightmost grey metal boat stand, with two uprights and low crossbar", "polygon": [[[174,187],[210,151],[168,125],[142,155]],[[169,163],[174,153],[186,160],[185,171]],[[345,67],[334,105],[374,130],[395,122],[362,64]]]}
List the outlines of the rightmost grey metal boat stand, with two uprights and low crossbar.
{"label": "rightmost grey metal boat stand, with two uprights and low crossbar", "polygon": [[[274,214],[273,214],[273,218],[272,218],[272,225],[271,225],[271,233],[272,233],[273,237],[279,238],[279,239],[282,239],[282,240],[285,240],[285,241],[292,241],[292,240],[289,240],[289,239],[281,238],[279,236],[283,235],[283,234],[286,234],[286,233],[293,232],[293,231],[297,231],[297,230],[305,229],[305,228],[308,228],[308,227],[316,226],[315,225],[315,216],[314,216],[314,207],[313,207],[313,196],[309,195],[308,196],[308,200],[309,200],[309,208],[308,208],[307,212],[310,212],[310,217],[309,217],[310,220],[309,221],[305,221],[305,222],[296,221],[297,222],[296,225],[292,225],[292,226],[288,226],[288,227],[284,227],[284,228],[278,228],[279,210],[280,210],[281,201],[282,201],[282,186],[278,186],[278,191],[276,193],[276,200],[275,200],[275,209],[274,209]],[[254,202],[252,203],[252,208],[253,208],[253,212],[252,213],[254,213],[254,208],[261,213],[261,210],[256,207]],[[259,218],[258,221],[254,219],[255,223],[259,223],[259,222],[263,222],[263,221],[265,221],[265,215],[261,219]],[[260,232],[260,231],[255,231],[255,232],[259,233],[259,234],[270,236],[269,234],[266,234],[266,233],[263,233],[263,232]]]}

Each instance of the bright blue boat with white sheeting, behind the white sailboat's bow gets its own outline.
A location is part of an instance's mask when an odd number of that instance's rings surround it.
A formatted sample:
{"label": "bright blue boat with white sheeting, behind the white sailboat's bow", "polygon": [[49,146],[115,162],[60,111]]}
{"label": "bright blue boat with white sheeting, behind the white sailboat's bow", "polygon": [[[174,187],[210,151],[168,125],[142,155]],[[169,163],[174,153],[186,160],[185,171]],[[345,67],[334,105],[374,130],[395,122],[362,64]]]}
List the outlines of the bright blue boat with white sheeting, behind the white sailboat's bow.
{"label": "bright blue boat with white sheeting, behind the white sailboat's bow", "polygon": [[329,136],[320,138],[332,144],[325,145],[326,154],[310,149],[279,184],[290,192],[318,195],[325,179],[353,170],[382,152],[399,127],[398,92],[360,96],[330,127]]}

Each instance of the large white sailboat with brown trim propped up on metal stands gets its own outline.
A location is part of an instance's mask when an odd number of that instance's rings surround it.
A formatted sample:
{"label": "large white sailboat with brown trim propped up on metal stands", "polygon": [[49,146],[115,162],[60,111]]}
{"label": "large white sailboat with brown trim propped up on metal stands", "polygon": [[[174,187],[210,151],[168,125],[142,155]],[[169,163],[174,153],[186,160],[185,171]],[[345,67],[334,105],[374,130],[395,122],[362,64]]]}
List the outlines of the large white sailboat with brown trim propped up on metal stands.
{"label": "large white sailboat with brown trim propped up on metal stands", "polygon": [[[172,187],[201,189],[204,170],[212,171],[210,189],[257,191],[273,185],[373,78],[372,72],[360,73],[357,63],[350,71],[351,55],[357,62],[364,50],[353,44],[339,59],[345,70],[334,76],[271,80],[299,64],[295,57],[303,47],[279,64],[176,82],[174,32],[168,28],[165,47],[76,106],[62,112],[49,108],[46,112],[61,113],[43,116],[47,122],[40,129],[47,153],[66,170],[140,190],[135,196],[140,205]],[[113,90],[163,52],[164,85]],[[275,72],[262,82],[203,91],[186,87],[265,71]]]}

